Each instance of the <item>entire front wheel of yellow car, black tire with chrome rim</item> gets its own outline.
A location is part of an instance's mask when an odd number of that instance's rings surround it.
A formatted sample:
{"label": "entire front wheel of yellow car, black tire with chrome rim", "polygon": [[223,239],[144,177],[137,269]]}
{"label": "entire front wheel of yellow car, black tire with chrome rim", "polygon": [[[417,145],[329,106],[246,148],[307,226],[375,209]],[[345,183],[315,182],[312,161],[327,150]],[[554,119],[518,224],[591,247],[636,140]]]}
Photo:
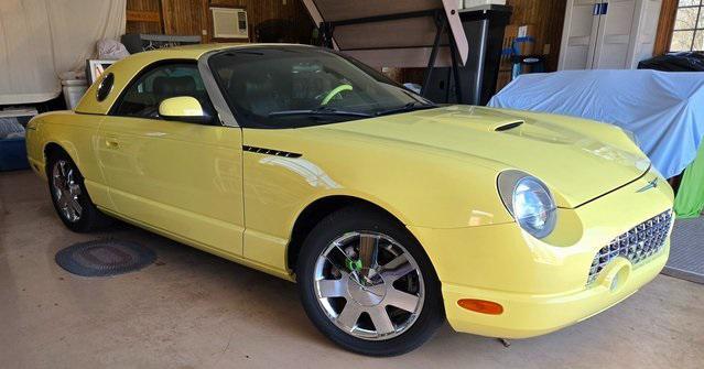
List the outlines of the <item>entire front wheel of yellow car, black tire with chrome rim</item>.
{"label": "entire front wheel of yellow car, black tire with chrome rim", "polygon": [[307,316],[347,350],[405,354],[444,323],[440,282],[423,248],[376,209],[348,207],[323,219],[304,241],[296,272]]}

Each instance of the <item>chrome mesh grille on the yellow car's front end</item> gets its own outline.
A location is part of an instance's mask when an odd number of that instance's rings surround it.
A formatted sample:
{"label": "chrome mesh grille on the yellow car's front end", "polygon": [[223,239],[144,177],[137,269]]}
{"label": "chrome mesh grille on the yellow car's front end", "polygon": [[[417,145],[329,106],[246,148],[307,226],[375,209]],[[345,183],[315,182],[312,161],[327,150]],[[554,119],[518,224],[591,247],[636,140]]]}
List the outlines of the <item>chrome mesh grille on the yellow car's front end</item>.
{"label": "chrome mesh grille on the yellow car's front end", "polygon": [[616,257],[628,259],[633,267],[662,250],[672,224],[672,211],[657,215],[613,239],[594,257],[587,284]]}

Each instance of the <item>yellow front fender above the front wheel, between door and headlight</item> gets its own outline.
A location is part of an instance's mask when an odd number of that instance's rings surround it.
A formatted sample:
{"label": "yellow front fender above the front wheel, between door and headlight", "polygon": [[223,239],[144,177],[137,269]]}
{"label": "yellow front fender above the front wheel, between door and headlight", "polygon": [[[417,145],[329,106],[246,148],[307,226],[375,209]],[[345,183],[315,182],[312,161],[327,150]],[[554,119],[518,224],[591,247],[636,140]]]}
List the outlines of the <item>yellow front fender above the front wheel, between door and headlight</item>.
{"label": "yellow front fender above the front wheel, between door and headlight", "polygon": [[494,163],[331,135],[335,133],[314,129],[243,130],[246,145],[301,154],[245,153],[248,229],[288,239],[308,204],[336,195],[373,203],[407,226],[457,228],[513,221],[498,196],[500,169]]}

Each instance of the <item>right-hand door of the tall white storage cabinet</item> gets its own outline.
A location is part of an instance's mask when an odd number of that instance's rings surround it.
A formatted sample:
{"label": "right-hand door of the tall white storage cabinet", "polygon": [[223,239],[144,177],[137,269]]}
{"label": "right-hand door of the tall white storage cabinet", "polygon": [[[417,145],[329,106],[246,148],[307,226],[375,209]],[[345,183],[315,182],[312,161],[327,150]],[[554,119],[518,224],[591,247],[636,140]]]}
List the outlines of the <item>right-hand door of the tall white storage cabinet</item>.
{"label": "right-hand door of the tall white storage cabinet", "polygon": [[636,0],[609,0],[602,7],[598,35],[594,53],[594,69],[624,69],[629,67],[629,45],[636,14]]}

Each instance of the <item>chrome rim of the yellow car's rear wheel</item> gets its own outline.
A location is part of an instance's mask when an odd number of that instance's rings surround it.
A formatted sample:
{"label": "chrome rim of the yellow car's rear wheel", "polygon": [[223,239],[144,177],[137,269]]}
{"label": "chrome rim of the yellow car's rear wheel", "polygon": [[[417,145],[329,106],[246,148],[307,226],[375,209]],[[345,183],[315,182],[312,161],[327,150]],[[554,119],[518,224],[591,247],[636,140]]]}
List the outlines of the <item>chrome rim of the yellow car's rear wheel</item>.
{"label": "chrome rim of the yellow car's rear wheel", "polygon": [[76,170],[66,160],[59,159],[52,167],[52,191],[54,200],[64,219],[76,223],[80,220],[83,207],[78,202],[82,195]]}

